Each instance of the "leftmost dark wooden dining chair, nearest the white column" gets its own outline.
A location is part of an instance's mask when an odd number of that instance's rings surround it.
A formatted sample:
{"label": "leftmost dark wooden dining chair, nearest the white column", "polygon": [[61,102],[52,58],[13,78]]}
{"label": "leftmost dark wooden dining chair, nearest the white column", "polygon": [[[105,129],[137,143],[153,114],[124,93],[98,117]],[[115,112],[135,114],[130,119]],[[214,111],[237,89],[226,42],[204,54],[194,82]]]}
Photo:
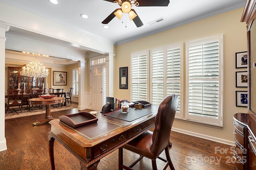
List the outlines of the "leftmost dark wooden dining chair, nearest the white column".
{"label": "leftmost dark wooden dining chair, nearest the white column", "polygon": [[23,106],[23,91],[18,90],[7,90],[8,99],[5,103],[6,112],[10,113],[10,107],[12,106],[20,106],[20,111],[22,113]]}

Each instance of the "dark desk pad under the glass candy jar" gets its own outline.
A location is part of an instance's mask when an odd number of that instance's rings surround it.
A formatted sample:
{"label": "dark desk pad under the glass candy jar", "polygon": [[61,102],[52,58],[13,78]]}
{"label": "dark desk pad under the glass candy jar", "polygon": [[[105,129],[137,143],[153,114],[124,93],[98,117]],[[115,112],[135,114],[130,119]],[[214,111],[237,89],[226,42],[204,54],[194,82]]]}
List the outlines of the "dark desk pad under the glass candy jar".
{"label": "dark desk pad under the glass candy jar", "polygon": [[136,119],[139,119],[140,117],[146,116],[150,113],[152,113],[152,111],[130,108],[128,113],[121,113],[121,110],[120,110],[115,113],[108,114],[107,116],[114,117],[116,119],[121,119],[123,121],[131,122]]}

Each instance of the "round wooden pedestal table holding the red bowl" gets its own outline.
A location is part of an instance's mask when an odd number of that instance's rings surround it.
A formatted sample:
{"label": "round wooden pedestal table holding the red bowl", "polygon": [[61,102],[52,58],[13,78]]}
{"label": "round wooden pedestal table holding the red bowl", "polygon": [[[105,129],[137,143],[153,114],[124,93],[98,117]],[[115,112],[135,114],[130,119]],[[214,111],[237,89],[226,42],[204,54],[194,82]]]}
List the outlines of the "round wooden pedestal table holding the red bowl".
{"label": "round wooden pedestal table holding the red bowl", "polygon": [[53,97],[52,99],[43,99],[41,97],[38,97],[38,98],[28,99],[28,103],[30,105],[45,105],[45,118],[46,119],[35,121],[33,123],[33,125],[36,125],[37,123],[40,123],[40,122],[51,121],[52,120],[51,105],[63,103],[64,101],[65,101],[64,97]]}

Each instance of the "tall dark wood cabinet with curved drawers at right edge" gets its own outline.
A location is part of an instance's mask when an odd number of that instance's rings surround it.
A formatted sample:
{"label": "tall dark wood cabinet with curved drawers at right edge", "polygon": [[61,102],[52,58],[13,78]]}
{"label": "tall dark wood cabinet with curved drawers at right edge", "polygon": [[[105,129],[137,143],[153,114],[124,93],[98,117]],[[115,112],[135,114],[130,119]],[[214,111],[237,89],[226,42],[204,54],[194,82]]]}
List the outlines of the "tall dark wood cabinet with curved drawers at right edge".
{"label": "tall dark wood cabinet with curved drawers at right edge", "polygon": [[[237,170],[256,170],[256,0],[246,1],[241,22],[247,24],[248,113],[234,115],[234,144],[236,148],[244,147],[246,152],[244,164],[241,166],[236,162],[235,166]],[[235,157],[239,155],[235,153]]]}

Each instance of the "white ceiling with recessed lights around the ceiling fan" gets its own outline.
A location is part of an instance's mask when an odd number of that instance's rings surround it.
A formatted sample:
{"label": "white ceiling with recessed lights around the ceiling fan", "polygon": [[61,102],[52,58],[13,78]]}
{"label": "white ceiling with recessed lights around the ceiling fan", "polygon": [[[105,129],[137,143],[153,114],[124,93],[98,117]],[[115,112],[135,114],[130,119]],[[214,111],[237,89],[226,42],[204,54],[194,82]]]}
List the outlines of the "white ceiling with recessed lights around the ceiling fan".
{"label": "white ceiling with recessed lights around the ceiling fan", "polygon": [[[130,21],[127,14],[119,20],[115,17],[108,23],[109,28],[103,28],[101,23],[115,9],[120,8],[116,3],[104,0],[58,0],[54,5],[48,0],[0,0],[0,2],[21,8],[23,10],[43,16],[55,22],[83,30],[95,36],[121,44],[144,36],[162,32],[177,26],[194,22],[203,18],[214,16],[229,10],[244,7],[246,0],[170,0],[167,7],[140,7],[132,6],[136,11],[143,26],[137,28]],[[140,0],[138,0],[140,2]],[[80,14],[87,14],[88,19],[83,19]],[[241,14],[242,16],[242,14]],[[153,25],[149,22],[164,18],[163,21]],[[7,34],[14,34],[27,38],[46,40],[42,35],[32,35],[17,28],[10,28]],[[32,36],[31,36],[32,35]],[[64,45],[60,40],[55,43]]]}

